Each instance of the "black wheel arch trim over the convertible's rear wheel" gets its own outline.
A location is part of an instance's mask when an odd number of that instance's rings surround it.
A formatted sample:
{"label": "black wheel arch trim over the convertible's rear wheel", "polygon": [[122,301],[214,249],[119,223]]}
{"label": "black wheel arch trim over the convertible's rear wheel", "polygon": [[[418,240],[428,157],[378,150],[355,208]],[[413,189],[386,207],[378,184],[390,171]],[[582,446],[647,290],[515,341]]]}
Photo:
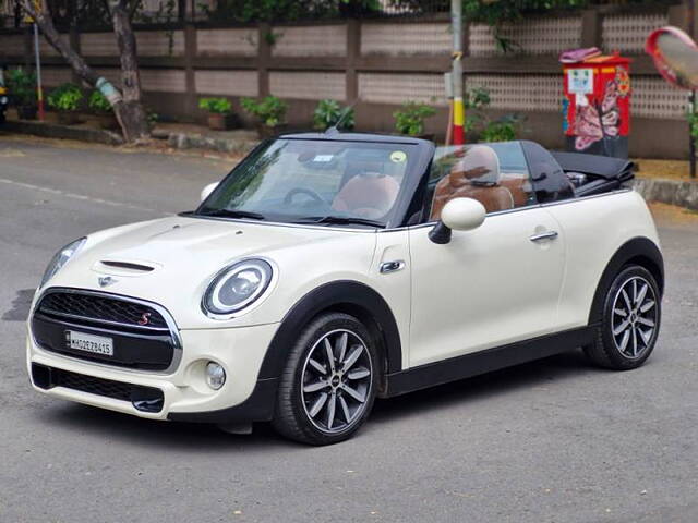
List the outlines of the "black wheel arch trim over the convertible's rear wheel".
{"label": "black wheel arch trim over the convertible's rear wheel", "polygon": [[660,296],[664,293],[664,259],[657,244],[649,238],[636,236],[624,243],[606,265],[594,292],[589,325],[597,323],[602,315],[604,294],[621,269],[629,264],[637,264],[649,270],[659,285]]}

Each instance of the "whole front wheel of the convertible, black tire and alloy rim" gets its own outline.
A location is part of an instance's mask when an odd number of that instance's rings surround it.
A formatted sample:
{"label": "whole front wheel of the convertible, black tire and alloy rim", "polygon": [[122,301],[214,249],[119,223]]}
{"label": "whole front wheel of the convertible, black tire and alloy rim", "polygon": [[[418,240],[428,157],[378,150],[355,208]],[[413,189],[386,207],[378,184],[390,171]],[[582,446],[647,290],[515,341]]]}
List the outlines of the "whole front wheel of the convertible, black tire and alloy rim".
{"label": "whole front wheel of the convertible, black tire and alloy rim", "polygon": [[375,341],[357,318],[342,313],[318,316],[290,351],[272,425],[309,445],[350,438],[373,408],[378,361]]}

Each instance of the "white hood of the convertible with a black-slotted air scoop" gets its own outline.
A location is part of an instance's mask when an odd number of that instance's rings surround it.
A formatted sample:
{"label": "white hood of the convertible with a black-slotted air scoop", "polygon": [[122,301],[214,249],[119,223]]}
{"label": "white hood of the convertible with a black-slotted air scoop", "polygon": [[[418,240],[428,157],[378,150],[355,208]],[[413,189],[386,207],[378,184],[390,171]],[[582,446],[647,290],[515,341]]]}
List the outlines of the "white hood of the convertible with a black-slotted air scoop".
{"label": "white hood of the convertible with a black-slotted air scoop", "polygon": [[[212,278],[225,266],[240,258],[263,256],[281,276],[298,271],[296,266],[302,266],[309,245],[315,252],[315,246],[325,251],[322,244],[328,243],[332,252],[329,244],[334,242],[359,240],[363,245],[354,252],[372,254],[374,236],[356,230],[178,216],[89,235],[49,285],[155,302],[170,311],[180,328],[224,327],[206,318],[200,303]],[[364,266],[361,270],[368,270],[370,258],[360,265]]]}

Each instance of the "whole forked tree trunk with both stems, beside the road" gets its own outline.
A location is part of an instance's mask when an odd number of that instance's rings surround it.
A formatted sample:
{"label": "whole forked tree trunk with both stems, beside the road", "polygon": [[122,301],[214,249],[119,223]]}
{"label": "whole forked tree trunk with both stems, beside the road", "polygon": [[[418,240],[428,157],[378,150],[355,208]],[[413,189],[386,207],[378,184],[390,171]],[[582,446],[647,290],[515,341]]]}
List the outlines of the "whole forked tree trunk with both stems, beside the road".
{"label": "whole forked tree trunk with both stems, beside the road", "polygon": [[[99,89],[109,100],[117,121],[121,126],[123,138],[131,143],[149,137],[147,117],[141,105],[141,83],[135,54],[135,37],[128,16],[123,16],[125,9],[123,1],[116,1],[120,9],[112,9],[115,33],[117,34],[121,51],[121,66],[123,76],[123,96],[111,83],[100,77],[75,50],[61,40],[48,5],[43,2],[41,12],[34,8],[33,0],[21,0],[22,8],[36,21],[46,40],[68,62],[72,70],[91,87]],[[123,20],[125,19],[125,23]],[[128,54],[124,57],[124,54]]]}

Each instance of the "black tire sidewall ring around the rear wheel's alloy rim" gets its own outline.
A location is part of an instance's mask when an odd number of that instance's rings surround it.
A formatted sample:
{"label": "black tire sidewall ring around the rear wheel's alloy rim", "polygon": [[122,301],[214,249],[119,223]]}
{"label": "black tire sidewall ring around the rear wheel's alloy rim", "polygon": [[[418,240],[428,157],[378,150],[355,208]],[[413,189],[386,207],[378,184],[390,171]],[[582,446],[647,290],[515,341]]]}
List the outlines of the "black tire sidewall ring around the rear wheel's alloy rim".
{"label": "black tire sidewall ring around the rear wheel's alloy rim", "polygon": [[[645,351],[641,357],[638,358],[629,358],[621,354],[621,352],[615,346],[615,340],[613,337],[613,305],[614,299],[618,290],[633,277],[641,277],[648,281],[652,291],[654,292],[655,299],[655,307],[657,307],[657,326],[654,328],[654,332],[652,333],[652,339],[649,343],[649,349]],[[602,340],[604,345],[604,352],[607,357],[617,368],[630,369],[636,368],[642,365],[648,357],[652,354],[654,350],[654,345],[657,344],[657,339],[659,337],[659,331],[661,327],[662,320],[662,305],[661,305],[661,294],[659,290],[659,285],[654,280],[652,273],[647,270],[645,267],[639,265],[630,265],[624,267],[621,272],[613,279],[611,287],[609,288],[603,304],[603,317],[602,317]]]}

